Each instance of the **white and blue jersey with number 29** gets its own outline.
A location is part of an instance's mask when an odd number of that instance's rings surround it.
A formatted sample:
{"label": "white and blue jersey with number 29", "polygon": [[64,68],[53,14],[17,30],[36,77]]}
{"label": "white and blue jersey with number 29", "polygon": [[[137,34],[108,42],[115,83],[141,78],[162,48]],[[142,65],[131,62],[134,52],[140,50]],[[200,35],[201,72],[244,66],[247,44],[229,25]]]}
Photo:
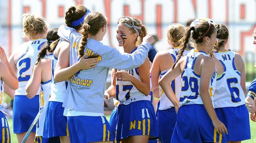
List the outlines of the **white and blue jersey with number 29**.
{"label": "white and blue jersey with number 29", "polygon": [[[199,95],[200,90],[200,75],[194,72],[194,63],[196,58],[199,55],[209,57],[203,51],[191,50],[190,53],[187,54],[187,63],[185,69],[183,70],[182,76],[182,88],[181,88],[181,96],[180,96],[180,106],[188,105],[188,104],[203,104],[202,99]],[[216,69],[214,73],[212,73],[210,84],[209,84],[209,94],[213,102],[213,95],[216,88]],[[213,106],[214,107],[214,106]]]}

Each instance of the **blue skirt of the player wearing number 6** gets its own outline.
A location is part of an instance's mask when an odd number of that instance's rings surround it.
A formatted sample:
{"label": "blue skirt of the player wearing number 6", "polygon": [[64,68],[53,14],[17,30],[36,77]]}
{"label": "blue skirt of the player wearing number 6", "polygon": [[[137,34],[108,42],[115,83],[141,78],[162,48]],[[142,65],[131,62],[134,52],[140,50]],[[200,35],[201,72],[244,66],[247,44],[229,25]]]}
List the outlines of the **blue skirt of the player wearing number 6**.
{"label": "blue skirt of the player wearing number 6", "polygon": [[249,114],[245,105],[215,109],[218,118],[227,127],[227,141],[251,138]]}

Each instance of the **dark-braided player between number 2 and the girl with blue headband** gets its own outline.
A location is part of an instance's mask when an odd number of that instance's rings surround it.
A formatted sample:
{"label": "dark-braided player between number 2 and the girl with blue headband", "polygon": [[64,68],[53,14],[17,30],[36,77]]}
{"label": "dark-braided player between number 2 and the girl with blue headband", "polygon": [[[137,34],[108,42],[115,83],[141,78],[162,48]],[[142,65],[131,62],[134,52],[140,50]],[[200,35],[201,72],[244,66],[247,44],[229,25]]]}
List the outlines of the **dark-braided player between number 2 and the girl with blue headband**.
{"label": "dark-braided player between number 2 and the girl with blue headband", "polygon": [[46,142],[47,138],[42,138],[46,116],[46,107],[51,92],[51,63],[55,46],[50,47],[51,43],[58,40],[60,37],[57,34],[58,28],[53,28],[47,33],[47,44],[41,49],[38,54],[37,62],[33,68],[32,77],[26,85],[26,95],[28,98],[33,98],[39,89],[39,110],[40,118],[37,121],[36,137],[34,142]]}

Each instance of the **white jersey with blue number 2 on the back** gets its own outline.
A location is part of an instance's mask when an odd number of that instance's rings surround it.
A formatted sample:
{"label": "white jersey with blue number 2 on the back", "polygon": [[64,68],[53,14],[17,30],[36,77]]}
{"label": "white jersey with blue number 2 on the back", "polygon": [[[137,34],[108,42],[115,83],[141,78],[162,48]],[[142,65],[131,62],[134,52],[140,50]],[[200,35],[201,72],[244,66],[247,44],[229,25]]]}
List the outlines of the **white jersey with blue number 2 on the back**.
{"label": "white jersey with blue number 2 on the back", "polygon": [[[26,48],[26,52],[17,60],[17,77],[19,80],[19,87],[15,90],[15,95],[26,96],[25,87],[32,75],[33,66],[35,65],[38,53],[40,52],[41,46],[44,44],[46,39],[35,39],[30,40],[21,45],[20,48]],[[37,92],[36,95],[38,95]]]}

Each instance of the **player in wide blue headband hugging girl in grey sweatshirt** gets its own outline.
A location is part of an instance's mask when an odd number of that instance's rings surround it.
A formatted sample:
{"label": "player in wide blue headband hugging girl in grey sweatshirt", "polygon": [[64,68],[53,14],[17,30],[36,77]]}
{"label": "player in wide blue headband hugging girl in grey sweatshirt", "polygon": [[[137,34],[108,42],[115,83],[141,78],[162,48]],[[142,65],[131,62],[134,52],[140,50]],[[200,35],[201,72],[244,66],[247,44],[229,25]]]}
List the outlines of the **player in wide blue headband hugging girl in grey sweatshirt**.
{"label": "player in wide blue headband hugging girl in grey sweatshirt", "polygon": [[[80,31],[83,19],[89,13],[90,11],[82,5],[77,5],[75,7],[70,6],[65,14],[65,24],[68,27],[72,27],[75,30]],[[63,49],[70,50],[70,44],[64,39],[59,39],[55,41],[53,44],[58,45],[53,52],[51,71],[51,97],[49,98],[49,104],[47,106],[43,137],[52,139],[60,138],[61,142],[67,143],[70,142],[67,127],[67,117],[66,115],[64,116],[64,108],[62,107],[62,104],[65,99],[67,81],[57,83],[53,79],[57,61],[64,60],[59,58],[59,54],[62,52]],[[96,64],[96,62],[94,62],[94,64]],[[67,63],[67,65],[69,66],[69,62]],[[86,60],[83,63],[80,63],[80,65],[86,67]]]}

